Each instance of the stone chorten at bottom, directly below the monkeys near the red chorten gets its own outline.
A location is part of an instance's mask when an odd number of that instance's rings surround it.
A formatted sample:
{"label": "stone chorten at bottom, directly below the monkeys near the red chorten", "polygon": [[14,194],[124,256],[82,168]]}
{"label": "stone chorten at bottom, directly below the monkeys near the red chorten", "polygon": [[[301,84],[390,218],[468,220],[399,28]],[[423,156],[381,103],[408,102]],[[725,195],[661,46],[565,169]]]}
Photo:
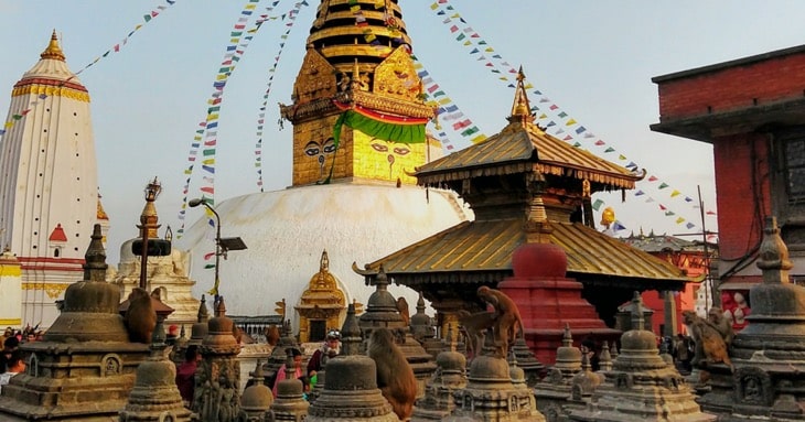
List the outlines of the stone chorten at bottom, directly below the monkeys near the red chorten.
{"label": "stone chorten at bottom, directly below the monkeys near the red chorten", "polygon": [[525,383],[523,370],[512,370],[506,359],[494,356],[492,336],[486,336],[485,340],[481,355],[470,364],[466,387],[453,394],[457,408],[443,421],[544,422],[545,416],[537,410],[537,401]]}

